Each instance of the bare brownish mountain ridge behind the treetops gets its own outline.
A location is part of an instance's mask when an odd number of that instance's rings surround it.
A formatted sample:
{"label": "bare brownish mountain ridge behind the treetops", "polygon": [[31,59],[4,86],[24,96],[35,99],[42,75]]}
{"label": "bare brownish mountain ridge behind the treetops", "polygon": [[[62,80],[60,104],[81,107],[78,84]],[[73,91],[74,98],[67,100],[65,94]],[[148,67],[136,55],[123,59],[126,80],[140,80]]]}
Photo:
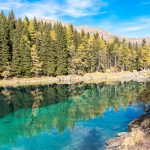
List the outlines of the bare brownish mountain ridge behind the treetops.
{"label": "bare brownish mountain ridge behind the treetops", "polygon": [[[55,19],[41,19],[39,18],[38,21],[43,21],[43,22],[47,22],[47,23],[51,23],[52,25],[54,25],[57,22],[61,22],[62,25],[69,25],[70,23],[67,22],[62,22],[59,20],[55,20]],[[138,43],[141,44],[143,39],[145,39],[147,41],[147,43],[150,44],[150,37],[143,37],[143,38],[130,38],[130,37],[123,37],[123,36],[118,36],[118,35],[114,35],[110,32],[105,31],[102,28],[99,27],[91,27],[91,26],[87,26],[87,25],[81,25],[81,26],[75,26],[74,27],[81,32],[82,30],[84,30],[86,33],[89,32],[90,34],[94,34],[94,33],[99,33],[100,36],[103,36],[103,38],[105,40],[112,40],[115,36],[117,36],[120,40],[126,39],[127,42],[131,42],[131,43]]]}

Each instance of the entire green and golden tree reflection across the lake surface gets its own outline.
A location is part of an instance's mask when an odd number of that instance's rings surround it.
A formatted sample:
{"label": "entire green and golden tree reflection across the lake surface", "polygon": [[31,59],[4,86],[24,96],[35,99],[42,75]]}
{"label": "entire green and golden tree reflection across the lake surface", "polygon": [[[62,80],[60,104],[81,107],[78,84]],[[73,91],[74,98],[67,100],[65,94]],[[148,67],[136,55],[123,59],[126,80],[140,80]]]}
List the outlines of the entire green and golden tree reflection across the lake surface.
{"label": "entire green and golden tree reflection across the lake surface", "polygon": [[13,117],[8,115],[0,119],[0,144],[14,142],[18,136],[50,132],[53,128],[60,132],[66,128],[73,129],[78,120],[86,121],[103,115],[109,108],[118,111],[122,106],[126,109],[127,105],[136,102],[138,93],[142,93],[145,86],[137,82],[52,85],[7,89],[12,93],[8,95],[0,89],[0,107],[4,107],[0,108],[3,110],[0,111],[1,117],[10,113],[6,108],[7,96],[11,95],[15,112]]}

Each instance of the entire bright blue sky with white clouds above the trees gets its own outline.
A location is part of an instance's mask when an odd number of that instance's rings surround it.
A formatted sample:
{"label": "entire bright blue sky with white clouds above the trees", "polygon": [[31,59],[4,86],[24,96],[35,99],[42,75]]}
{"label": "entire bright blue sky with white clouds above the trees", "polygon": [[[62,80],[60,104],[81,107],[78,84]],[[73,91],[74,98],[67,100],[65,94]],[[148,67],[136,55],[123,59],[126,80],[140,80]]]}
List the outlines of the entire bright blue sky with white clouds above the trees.
{"label": "entire bright blue sky with white clouds above the trees", "polygon": [[103,28],[116,35],[150,37],[150,0],[0,0],[16,17],[53,18]]}

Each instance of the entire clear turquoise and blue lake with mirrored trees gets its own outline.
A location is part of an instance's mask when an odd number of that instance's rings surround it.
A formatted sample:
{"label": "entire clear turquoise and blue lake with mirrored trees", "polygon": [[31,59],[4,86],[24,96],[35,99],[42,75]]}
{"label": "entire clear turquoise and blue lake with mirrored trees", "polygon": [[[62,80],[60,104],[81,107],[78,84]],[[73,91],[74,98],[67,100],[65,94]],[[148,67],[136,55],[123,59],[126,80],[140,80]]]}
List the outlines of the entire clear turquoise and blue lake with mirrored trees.
{"label": "entire clear turquoise and blue lake with mirrored trees", "polygon": [[103,150],[144,113],[146,85],[0,88],[0,150]]}

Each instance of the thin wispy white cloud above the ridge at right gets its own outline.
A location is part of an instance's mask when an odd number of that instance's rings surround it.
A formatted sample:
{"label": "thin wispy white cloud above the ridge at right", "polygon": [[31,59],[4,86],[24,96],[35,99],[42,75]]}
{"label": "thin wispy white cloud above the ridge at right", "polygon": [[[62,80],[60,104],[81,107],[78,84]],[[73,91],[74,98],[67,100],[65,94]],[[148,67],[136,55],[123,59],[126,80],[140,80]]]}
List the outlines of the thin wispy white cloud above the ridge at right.
{"label": "thin wispy white cloud above the ridge at right", "polygon": [[117,35],[130,37],[150,36],[150,17],[139,17],[133,20],[117,21],[117,18],[107,18],[100,26]]}

